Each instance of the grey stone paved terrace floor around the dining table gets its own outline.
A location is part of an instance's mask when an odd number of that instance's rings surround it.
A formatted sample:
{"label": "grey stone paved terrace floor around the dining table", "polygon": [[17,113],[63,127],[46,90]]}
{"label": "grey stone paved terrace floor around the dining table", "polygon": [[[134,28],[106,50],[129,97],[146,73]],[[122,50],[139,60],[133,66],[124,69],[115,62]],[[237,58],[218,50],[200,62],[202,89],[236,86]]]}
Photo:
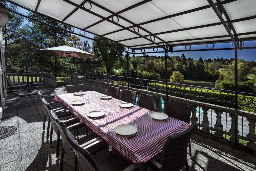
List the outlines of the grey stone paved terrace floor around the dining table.
{"label": "grey stone paved terrace floor around the dining table", "polygon": [[[66,93],[64,87],[46,87],[41,90],[49,101],[53,101],[56,94]],[[18,131],[0,140],[0,171],[59,170],[59,161],[55,156],[56,135],[53,136],[53,146],[50,147],[46,141],[46,133],[42,131],[43,116],[44,111],[37,95],[16,97],[8,93],[0,126],[15,126]],[[79,132],[83,133],[83,130]],[[188,159],[190,171],[256,170],[256,156],[195,133],[191,140],[193,159]],[[95,160],[100,162],[109,156],[105,149],[96,154]],[[72,170],[69,163],[65,159],[64,170]]]}

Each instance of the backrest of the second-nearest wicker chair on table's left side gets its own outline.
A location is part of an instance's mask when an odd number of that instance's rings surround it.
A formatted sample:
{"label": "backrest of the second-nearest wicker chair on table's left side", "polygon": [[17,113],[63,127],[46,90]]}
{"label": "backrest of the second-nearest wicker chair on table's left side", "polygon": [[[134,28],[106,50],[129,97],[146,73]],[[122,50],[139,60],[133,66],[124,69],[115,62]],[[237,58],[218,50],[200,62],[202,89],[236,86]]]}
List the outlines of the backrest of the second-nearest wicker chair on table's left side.
{"label": "backrest of the second-nearest wicker chair on table's left side", "polygon": [[67,156],[71,160],[76,160],[75,153],[73,152],[73,149],[71,148],[69,143],[67,143],[67,140],[63,133],[63,128],[65,128],[66,125],[62,121],[59,120],[59,118],[57,117],[57,115],[55,114],[55,112],[53,110],[50,110],[50,119],[51,119],[52,123],[55,123],[57,125],[57,128],[59,129],[60,135],[62,137],[62,148],[67,153]]}

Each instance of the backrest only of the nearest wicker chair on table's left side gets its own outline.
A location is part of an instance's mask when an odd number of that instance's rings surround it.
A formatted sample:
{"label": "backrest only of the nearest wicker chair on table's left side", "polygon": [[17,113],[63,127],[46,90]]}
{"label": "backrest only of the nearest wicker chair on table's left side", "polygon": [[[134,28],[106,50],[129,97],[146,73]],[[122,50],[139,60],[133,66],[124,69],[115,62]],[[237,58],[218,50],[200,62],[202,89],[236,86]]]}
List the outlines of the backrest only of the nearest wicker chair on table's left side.
{"label": "backrest only of the nearest wicker chair on table's left side", "polygon": [[83,149],[77,143],[69,129],[66,127],[63,128],[63,134],[69,145],[72,147],[73,151],[76,153],[79,171],[100,171],[100,168],[94,158],[92,158],[91,154],[87,150]]}

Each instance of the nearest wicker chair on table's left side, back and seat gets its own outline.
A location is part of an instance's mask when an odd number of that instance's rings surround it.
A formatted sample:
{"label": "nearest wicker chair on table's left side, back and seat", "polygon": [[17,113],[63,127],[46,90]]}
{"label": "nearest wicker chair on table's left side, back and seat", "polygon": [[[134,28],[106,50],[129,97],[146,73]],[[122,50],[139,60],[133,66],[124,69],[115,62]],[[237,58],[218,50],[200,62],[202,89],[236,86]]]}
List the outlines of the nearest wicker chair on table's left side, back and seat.
{"label": "nearest wicker chair on table's left side, back and seat", "polygon": [[72,147],[76,153],[79,171],[121,171],[125,170],[125,168],[130,165],[130,163],[118,153],[97,163],[91,156],[90,149],[81,147],[68,129],[64,128],[63,133],[70,147]]}

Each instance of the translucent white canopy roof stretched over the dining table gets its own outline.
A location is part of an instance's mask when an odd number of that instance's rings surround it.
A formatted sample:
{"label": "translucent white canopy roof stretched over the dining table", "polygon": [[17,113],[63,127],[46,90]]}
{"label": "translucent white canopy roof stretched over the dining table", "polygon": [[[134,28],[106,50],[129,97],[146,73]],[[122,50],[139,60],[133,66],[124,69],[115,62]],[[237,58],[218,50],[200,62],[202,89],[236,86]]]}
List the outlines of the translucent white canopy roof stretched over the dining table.
{"label": "translucent white canopy roof stretched over the dining table", "polygon": [[256,39],[255,0],[7,1],[133,50]]}

